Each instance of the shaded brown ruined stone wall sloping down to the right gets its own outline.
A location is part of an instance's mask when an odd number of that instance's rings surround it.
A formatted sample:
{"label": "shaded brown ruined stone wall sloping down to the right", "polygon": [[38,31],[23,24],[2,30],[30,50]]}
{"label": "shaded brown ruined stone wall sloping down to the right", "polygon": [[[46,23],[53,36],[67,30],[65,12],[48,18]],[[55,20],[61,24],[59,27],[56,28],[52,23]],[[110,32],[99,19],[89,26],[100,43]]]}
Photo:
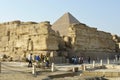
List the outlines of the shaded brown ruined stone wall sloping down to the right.
{"label": "shaded brown ruined stone wall sloping down to the right", "polygon": [[68,36],[72,39],[71,43],[75,51],[73,55],[83,53],[99,55],[100,53],[115,52],[115,42],[110,33],[98,31],[96,28],[88,27],[85,24],[72,24],[69,27]]}

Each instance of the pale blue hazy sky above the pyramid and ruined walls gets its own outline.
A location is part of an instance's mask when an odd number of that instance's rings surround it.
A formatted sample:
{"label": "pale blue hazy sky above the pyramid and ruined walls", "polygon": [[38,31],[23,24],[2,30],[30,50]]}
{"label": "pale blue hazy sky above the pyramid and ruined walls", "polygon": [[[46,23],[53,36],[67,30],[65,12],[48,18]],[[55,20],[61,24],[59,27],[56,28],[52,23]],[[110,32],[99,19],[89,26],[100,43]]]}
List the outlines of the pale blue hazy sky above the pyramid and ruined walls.
{"label": "pale blue hazy sky above the pyramid and ruined walls", "polygon": [[0,23],[50,21],[70,12],[80,22],[120,36],[120,0],[0,0]]}

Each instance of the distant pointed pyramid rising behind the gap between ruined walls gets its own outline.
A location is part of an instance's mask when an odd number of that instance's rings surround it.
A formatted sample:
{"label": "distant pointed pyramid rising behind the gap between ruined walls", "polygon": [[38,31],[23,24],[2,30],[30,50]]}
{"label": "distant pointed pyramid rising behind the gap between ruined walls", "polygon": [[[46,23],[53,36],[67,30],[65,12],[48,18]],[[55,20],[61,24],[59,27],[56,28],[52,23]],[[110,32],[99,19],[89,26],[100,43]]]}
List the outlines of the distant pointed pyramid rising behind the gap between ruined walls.
{"label": "distant pointed pyramid rising behind the gap between ruined walls", "polygon": [[55,23],[53,23],[52,29],[55,31],[59,31],[60,35],[62,36],[67,35],[69,25],[73,23],[80,22],[68,12],[60,17]]}

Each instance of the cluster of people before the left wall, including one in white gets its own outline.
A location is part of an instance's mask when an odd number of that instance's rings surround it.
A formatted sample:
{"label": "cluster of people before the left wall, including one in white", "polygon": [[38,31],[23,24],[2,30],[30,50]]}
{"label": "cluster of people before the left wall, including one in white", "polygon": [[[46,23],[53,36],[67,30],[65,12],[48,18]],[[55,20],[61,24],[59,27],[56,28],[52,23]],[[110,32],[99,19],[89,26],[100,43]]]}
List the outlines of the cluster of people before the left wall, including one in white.
{"label": "cluster of people before the left wall, including one in white", "polygon": [[45,63],[45,66],[46,67],[49,67],[49,57],[48,56],[45,56],[45,55],[35,55],[34,56],[34,59],[32,57],[32,53],[30,53],[28,55],[28,67],[32,67],[32,62],[35,61],[37,65],[39,65],[40,63]]}

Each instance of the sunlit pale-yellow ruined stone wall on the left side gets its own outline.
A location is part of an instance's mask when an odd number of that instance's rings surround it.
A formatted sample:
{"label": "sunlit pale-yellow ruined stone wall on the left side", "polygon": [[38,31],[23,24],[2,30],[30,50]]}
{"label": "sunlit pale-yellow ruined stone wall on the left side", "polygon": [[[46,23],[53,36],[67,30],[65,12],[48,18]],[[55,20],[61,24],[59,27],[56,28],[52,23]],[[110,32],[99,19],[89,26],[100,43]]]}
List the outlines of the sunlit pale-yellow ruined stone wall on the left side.
{"label": "sunlit pale-yellow ruined stone wall on the left side", "polygon": [[0,53],[20,57],[24,52],[58,50],[60,36],[49,22],[7,22],[0,24],[0,32]]}

